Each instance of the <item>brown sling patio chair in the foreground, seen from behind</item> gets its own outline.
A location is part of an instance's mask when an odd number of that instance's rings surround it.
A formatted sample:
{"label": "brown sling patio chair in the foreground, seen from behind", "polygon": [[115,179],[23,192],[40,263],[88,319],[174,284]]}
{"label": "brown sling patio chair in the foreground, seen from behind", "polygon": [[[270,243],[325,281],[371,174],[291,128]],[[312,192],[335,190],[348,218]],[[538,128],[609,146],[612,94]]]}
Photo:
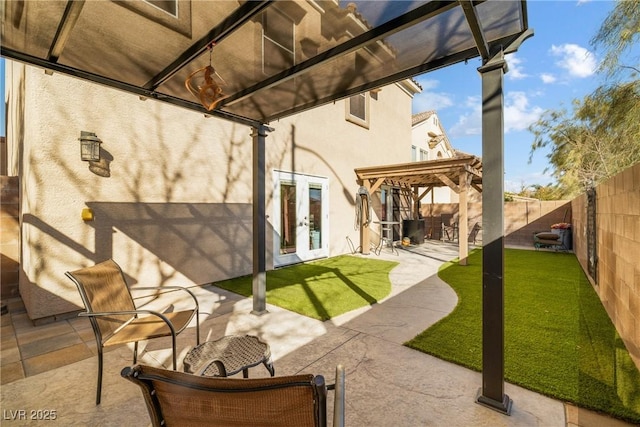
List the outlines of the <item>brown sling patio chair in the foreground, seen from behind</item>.
{"label": "brown sling patio chair in the foreground, seen from behind", "polygon": [[336,383],[322,375],[233,379],[136,365],[121,375],[140,386],[153,426],[327,425],[327,390],[335,390],[333,426],[344,426],[344,368]]}

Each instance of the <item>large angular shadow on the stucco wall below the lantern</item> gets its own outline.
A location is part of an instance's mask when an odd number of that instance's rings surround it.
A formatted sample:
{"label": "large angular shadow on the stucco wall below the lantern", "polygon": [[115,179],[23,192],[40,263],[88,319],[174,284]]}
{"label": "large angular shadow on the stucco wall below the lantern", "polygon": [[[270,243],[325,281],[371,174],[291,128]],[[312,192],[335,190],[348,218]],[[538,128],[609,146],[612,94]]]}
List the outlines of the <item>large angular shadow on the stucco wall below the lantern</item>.
{"label": "large angular shadow on the stucco wall below the lantern", "polygon": [[119,258],[122,233],[196,284],[250,274],[252,208],[248,203],[88,202],[96,220],[96,262]]}

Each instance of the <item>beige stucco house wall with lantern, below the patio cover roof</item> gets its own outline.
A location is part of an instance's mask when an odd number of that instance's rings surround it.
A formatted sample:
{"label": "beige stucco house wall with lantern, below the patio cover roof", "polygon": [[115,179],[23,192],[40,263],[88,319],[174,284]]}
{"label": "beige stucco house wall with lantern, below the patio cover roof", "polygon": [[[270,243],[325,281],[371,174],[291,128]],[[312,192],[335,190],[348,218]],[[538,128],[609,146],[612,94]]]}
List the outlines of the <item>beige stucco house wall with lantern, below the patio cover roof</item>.
{"label": "beige stucco house wall with lantern, below the patio cover roof", "polygon": [[[368,128],[345,119],[344,100],[270,123],[268,216],[271,171],[326,177],[329,255],[349,252],[349,239],[358,241],[354,168],[409,160],[410,87],[392,84],[370,99]],[[21,186],[20,293],[30,318],[78,310],[64,272],[106,258],[132,285],[251,273],[249,127],[11,61],[7,91],[9,174]],[[110,176],[80,160],[81,131],[102,140]],[[85,208],[95,220],[82,220]],[[268,232],[268,252],[272,239]]]}

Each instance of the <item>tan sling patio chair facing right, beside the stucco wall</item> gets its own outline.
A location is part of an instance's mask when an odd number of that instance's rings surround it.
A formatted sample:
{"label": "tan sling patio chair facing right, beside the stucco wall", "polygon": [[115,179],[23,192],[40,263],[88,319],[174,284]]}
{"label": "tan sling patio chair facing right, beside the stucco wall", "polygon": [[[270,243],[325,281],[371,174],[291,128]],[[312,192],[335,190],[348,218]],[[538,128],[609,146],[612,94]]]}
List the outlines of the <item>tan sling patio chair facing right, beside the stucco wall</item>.
{"label": "tan sling patio chair facing right, beside the stucco wall", "polygon": [[176,369],[176,335],[184,331],[191,320],[196,318],[196,342],[200,344],[198,300],[196,296],[180,286],[138,287],[138,290],[155,290],[159,293],[185,291],[193,298],[195,307],[190,310],[171,313],[138,309],[131,290],[127,286],[120,266],[107,260],[92,267],[69,272],[69,277],[78,287],[85,312],[78,316],[88,317],[98,344],[98,386],[96,405],[100,404],[102,391],[103,347],[135,343],[133,363],[138,360],[138,341],[159,337],[171,337],[173,349],[173,369]]}

